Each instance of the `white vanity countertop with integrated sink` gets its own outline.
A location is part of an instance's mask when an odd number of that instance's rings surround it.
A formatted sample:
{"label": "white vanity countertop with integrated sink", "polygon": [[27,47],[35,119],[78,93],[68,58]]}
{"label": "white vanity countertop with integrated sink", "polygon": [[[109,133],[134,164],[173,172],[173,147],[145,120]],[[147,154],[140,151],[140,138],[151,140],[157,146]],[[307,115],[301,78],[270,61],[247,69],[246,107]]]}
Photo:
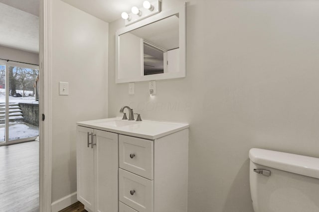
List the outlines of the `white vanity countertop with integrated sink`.
{"label": "white vanity countertop with integrated sink", "polygon": [[155,140],[169,134],[187,129],[188,124],[149,121],[142,122],[121,120],[121,118],[98,119],[84,122],[77,122],[79,126],[94,128],[98,130],[118,133],[127,136],[134,136],[144,139]]}

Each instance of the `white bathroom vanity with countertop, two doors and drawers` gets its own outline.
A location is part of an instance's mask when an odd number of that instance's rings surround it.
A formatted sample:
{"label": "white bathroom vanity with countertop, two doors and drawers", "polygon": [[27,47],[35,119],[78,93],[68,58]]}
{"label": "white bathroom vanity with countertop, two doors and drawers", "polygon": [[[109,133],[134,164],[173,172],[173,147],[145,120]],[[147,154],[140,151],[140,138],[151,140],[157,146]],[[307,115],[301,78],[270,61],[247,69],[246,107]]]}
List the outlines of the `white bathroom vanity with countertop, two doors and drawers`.
{"label": "white bathroom vanity with countertop, two doors and drawers", "polygon": [[188,125],[76,123],[77,199],[89,212],[186,212]]}

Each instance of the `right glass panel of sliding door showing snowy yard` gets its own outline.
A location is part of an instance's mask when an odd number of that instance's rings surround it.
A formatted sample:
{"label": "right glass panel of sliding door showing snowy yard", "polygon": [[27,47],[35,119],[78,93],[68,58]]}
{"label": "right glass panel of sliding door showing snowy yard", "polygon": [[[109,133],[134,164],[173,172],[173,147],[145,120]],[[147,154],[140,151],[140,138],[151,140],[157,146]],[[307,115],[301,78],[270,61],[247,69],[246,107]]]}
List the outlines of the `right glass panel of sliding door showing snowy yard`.
{"label": "right glass panel of sliding door showing snowy yard", "polygon": [[32,140],[39,135],[38,74],[38,69],[8,66],[9,142]]}

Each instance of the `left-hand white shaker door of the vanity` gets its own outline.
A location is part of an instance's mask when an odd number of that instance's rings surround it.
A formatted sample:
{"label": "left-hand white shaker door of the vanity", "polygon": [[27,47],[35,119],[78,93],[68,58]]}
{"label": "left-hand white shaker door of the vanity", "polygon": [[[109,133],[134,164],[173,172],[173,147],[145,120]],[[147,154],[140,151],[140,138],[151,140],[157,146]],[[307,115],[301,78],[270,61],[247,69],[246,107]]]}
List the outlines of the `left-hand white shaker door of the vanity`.
{"label": "left-hand white shaker door of the vanity", "polygon": [[77,199],[94,211],[94,148],[88,147],[88,133],[92,135],[93,129],[76,127]]}

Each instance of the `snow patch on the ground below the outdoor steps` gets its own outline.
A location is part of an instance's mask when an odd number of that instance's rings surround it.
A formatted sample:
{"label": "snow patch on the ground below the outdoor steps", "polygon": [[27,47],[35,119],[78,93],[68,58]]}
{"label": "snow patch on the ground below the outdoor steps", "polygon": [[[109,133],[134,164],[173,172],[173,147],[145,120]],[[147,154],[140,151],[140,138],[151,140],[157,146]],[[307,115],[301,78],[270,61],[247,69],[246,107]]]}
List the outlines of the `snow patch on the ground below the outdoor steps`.
{"label": "snow patch on the ground below the outdoor steps", "polygon": [[[4,141],[4,124],[0,124],[0,141]],[[9,140],[25,139],[39,135],[39,128],[24,122],[9,123]]]}

